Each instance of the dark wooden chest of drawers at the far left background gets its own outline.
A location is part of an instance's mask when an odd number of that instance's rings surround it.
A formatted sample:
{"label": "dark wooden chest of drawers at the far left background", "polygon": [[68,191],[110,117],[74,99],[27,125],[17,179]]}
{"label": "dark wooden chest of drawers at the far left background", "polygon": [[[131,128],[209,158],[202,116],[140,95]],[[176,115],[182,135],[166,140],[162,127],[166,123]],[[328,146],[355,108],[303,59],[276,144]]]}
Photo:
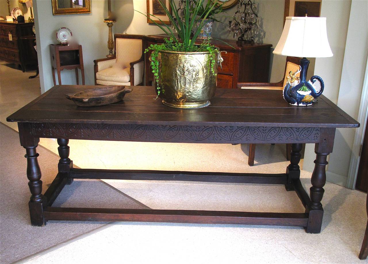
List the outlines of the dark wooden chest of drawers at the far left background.
{"label": "dark wooden chest of drawers at the far left background", "polygon": [[[22,51],[21,37],[33,35],[34,23],[0,21],[0,59],[6,62],[20,64],[23,72],[26,64],[35,64],[37,61],[29,61],[28,54]],[[10,36],[11,34],[11,36]]]}

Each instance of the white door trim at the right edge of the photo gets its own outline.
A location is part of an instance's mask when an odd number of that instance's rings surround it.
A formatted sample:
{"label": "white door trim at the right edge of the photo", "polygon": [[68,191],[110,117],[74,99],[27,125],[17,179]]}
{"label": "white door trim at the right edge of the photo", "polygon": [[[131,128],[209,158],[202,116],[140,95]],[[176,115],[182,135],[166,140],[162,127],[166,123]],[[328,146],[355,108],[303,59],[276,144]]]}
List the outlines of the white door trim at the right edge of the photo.
{"label": "white door trim at the right edge of the photo", "polygon": [[360,127],[355,130],[353,150],[350,156],[350,165],[347,178],[347,188],[355,189],[355,182],[357,181],[358,168],[360,162],[361,145],[364,140],[364,131],[367,128],[368,117],[368,58],[365,66],[365,75],[362,87],[362,95],[360,99],[358,122]]}

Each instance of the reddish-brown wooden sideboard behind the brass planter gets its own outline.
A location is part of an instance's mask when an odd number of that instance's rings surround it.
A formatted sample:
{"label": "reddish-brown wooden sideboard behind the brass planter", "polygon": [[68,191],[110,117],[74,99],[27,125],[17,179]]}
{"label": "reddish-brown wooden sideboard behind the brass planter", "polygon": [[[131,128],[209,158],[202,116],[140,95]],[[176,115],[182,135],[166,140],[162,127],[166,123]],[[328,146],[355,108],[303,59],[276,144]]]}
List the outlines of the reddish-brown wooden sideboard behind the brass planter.
{"label": "reddish-brown wooden sideboard behind the brass planter", "polygon": [[[144,36],[144,47],[151,44],[163,43],[167,35],[149,35]],[[268,82],[269,62],[271,53],[271,44],[262,43],[237,43],[236,40],[223,40],[231,46],[219,40],[211,40],[211,43],[218,47],[222,53],[224,61],[222,69],[217,69],[217,87],[219,88],[237,88],[238,82]],[[201,43],[198,40],[196,43]],[[151,51],[145,54],[145,80],[146,85],[151,85],[153,74],[149,68],[149,55]]]}

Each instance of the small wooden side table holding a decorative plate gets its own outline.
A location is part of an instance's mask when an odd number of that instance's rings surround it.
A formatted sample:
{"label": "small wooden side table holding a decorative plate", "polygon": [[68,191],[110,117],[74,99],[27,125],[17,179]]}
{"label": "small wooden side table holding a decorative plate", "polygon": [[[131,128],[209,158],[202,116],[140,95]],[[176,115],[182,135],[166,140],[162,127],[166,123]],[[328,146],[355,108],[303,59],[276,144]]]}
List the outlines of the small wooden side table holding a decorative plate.
{"label": "small wooden side table holding a decorative plate", "polygon": [[57,78],[59,79],[59,84],[61,84],[60,72],[63,69],[75,69],[75,79],[77,79],[77,84],[79,84],[78,68],[81,70],[82,84],[84,85],[82,45],[63,46],[61,44],[51,44],[50,52],[52,63],[52,78],[54,80],[54,85],[56,85],[55,69],[57,70]]}

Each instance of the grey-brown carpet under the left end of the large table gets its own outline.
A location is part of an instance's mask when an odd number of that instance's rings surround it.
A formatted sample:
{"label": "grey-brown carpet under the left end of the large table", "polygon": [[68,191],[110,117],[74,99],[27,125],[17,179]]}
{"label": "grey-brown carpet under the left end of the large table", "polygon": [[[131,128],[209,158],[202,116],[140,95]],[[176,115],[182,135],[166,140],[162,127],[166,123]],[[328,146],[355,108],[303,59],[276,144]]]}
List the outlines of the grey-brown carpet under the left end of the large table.
{"label": "grey-brown carpet under the left end of the large table", "polygon": [[[37,152],[40,154],[38,160],[45,192],[57,174],[59,157],[40,146]],[[44,227],[31,226],[28,209],[31,193],[27,184],[24,154],[18,133],[0,124],[0,263],[12,263],[106,224],[48,221]],[[66,185],[54,205],[147,208],[96,180],[75,180],[73,184]]]}

